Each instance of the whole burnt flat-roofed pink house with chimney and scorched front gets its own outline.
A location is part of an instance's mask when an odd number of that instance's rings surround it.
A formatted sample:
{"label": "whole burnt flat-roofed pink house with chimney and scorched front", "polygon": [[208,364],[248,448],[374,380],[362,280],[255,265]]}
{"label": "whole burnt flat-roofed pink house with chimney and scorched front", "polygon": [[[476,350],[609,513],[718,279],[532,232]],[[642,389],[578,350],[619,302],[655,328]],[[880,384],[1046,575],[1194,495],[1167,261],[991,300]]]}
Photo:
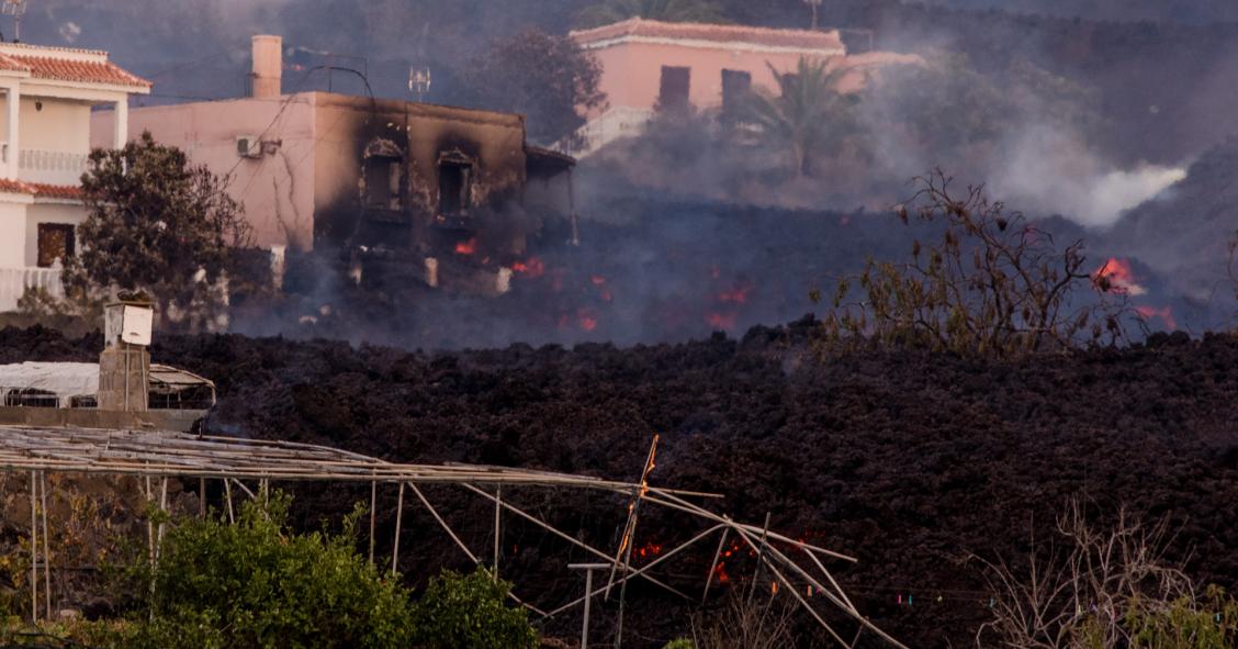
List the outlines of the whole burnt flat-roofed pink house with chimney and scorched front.
{"label": "whole burnt flat-roofed pink house with chimney and scorched front", "polygon": [[[255,36],[250,97],[129,110],[129,133],[230,175],[255,244],[499,272],[571,218],[574,160],[526,145],[522,115],[339,93],[285,94],[282,41]],[[95,115],[97,145],[110,118]],[[484,263],[483,263],[484,261]]]}

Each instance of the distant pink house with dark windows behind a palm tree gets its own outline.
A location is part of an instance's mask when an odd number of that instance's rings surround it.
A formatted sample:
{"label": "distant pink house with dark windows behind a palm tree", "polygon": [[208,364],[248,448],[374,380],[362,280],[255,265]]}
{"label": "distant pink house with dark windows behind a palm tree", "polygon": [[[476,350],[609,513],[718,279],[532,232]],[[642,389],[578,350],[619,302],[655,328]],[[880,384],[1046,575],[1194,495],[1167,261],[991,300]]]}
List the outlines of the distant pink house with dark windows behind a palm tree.
{"label": "distant pink house with dark windows behind a palm tree", "polygon": [[[847,68],[839,89],[855,92],[869,73],[919,57],[891,52],[848,54],[838,30],[773,30],[629,19],[573,31],[602,63],[600,89],[609,104],[593,110],[581,135],[588,154],[644,129],[659,107],[691,104],[725,110],[751,89],[777,90],[774,71],[794,71],[801,58]],[[771,69],[773,68],[773,69]]]}

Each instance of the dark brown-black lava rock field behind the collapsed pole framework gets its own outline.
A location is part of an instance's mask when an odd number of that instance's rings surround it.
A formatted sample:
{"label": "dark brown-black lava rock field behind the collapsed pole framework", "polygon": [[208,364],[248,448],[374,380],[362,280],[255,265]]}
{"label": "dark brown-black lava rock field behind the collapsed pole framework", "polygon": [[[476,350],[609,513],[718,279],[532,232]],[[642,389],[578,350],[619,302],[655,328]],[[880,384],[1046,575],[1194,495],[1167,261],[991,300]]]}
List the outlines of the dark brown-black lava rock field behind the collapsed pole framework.
{"label": "dark brown-black lava rock field behind the collapsed pole framework", "polygon": [[[1177,530],[1170,556],[1191,573],[1238,586],[1238,338],[1153,336],[1148,344],[1026,363],[933,354],[818,359],[811,322],[681,344],[421,353],[343,342],[243,336],[161,337],[157,362],[210,377],[220,400],[208,429],[329,443],[416,462],[480,462],[634,479],[661,435],[654,479],[725,494],[719,509],[853,554],[836,566],[857,604],[910,647],[973,644],[985,619],[967,557],[1026,555],[1067,499],[1098,520],[1127,505]],[[0,362],[85,360],[98,334],[0,331]],[[368,488],[297,488],[306,526],[338,520]],[[465,541],[489,547],[493,509],[432,493]],[[511,494],[581,538],[610,547],[625,503],[581,494]],[[379,551],[390,546],[395,494],[380,498]],[[465,560],[416,508],[401,567],[413,583]],[[696,531],[650,509],[636,544],[647,561]],[[557,606],[578,595],[562,568],[586,556],[513,521],[503,566],[517,592]],[[711,547],[667,568],[698,588]],[[484,554],[484,552],[483,552]],[[742,555],[742,554],[740,554]],[[641,552],[638,552],[638,557]],[[751,567],[735,556],[728,588]],[[695,585],[695,586],[692,586]],[[697,591],[699,592],[699,591]],[[900,606],[911,595],[915,604]],[[937,601],[937,597],[941,601]],[[629,591],[626,632],[655,647],[682,633],[687,609]],[[600,628],[614,623],[602,606]],[[571,637],[578,621],[546,630]]]}

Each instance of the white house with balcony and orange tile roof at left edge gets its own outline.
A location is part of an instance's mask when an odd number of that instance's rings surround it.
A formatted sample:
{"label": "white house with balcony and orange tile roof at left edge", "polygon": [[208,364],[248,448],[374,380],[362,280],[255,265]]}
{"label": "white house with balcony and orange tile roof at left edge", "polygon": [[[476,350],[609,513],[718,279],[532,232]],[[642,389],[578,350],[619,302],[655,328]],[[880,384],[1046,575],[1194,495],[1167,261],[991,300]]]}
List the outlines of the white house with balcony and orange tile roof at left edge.
{"label": "white house with balcony and orange tile roof at left edge", "polygon": [[30,286],[59,294],[59,260],[85,218],[90,110],[114,108],[111,144],[123,146],[129,95],[150,89],[106,52],[0,43],[0,311]]}

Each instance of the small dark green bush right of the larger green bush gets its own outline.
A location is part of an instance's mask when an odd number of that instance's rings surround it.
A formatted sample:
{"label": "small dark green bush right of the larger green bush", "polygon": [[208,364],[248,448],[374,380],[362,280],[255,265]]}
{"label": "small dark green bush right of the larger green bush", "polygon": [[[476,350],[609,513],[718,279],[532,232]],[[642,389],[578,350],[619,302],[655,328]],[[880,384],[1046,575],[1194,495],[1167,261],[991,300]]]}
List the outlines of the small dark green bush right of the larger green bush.
{"label": "small dark green bush right of the larger green bush", "polygon": [[525,609],[505,603],[510,591],[510,583],[480,566],[469,575],[443,571],[417,602],[416,644],[426,649],[537,647]]}

